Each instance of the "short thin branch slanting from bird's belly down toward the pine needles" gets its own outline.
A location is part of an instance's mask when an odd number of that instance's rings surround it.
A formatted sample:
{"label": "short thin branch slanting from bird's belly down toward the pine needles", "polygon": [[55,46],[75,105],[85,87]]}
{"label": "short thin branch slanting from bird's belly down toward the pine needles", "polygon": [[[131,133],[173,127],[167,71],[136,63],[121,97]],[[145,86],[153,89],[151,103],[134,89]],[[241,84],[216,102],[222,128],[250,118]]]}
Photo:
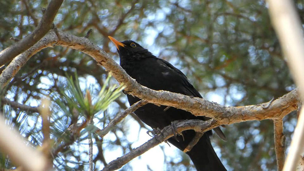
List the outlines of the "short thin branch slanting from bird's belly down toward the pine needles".
{"label": "short thin branch slanting from bird's belly down toward the pine needles", "polygon": [[96,134],[99,135],[101,138],[104,137],[109,131],[111,131],[115,127],[115,125],[118,124],[118,122],[123,120],[123,118],[125,118],[127,115],[136,111],[136,109],[147,103],[148,102],[145,100],[140,100],[134,103],[132,106],[130,106],[130,108],[127,108],[122,114],[117,115],[105,128],[103,128],[102,130],[98,129],[96,131]]}

